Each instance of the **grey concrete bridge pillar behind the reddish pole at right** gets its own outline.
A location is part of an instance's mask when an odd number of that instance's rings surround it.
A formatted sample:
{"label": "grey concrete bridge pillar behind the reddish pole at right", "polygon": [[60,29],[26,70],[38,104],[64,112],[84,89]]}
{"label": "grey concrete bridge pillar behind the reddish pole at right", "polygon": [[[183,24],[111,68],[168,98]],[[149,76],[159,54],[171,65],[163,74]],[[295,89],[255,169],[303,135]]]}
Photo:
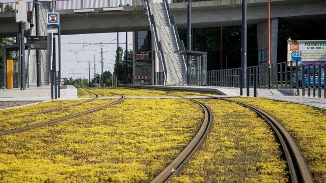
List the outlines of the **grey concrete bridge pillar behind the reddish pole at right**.
{"label": "grey concrete bridge pillar behind the reddish pole at right", "polygon": [[[270,19],[270,64],[277,63],[277,40],[279,19]],[[258,56],[259,65],[267,64],[267,20],[257,24]],[[285,43],[284,43],[285,44]],[[266,50],[266,51],[263,51]]]}

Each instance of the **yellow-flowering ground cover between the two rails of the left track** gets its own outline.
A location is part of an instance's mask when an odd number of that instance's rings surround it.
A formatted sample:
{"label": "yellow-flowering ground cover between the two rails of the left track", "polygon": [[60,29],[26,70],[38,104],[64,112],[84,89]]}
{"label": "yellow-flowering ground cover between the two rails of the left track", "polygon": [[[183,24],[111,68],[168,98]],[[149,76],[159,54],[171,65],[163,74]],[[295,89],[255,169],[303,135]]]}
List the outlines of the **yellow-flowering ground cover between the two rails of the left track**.
{"label": "yellow-flowering ground cover between the two rails of the left track", "polygon": [[[36,115],[32,115],[32,116],[25,116],[25,117],[16,117],[17,114],[16,113],[12,113],[12,112],[8,112],[6,115],[5,119],[2,119],[0,121],[0,132],[5,132],[5,131],[9,131],[9,130],[13,130],[13,129],[17,129],[17,128],[21,128],[21,127],[25,127],[25,126],[31,126],[31,125],[35,125],[35,124],[39,124],[39,123],[44,123],[46,121],[50,121],[53,119],[58,119],[64,116],[69,116],[72,114],[77,114],[80,112],[84,112],[90,109],[94,109],[97,107],[101,107],[107,104],[110,104],[112,102],[114,102],[115,99],[98,99],[98,100],[93,100],[87,103],[83,103],[81,105],[76,105],[76,106],[71,106],[68,108],[63,108],[63,109],[59,109],[59,110],[55,110],[52,112],[47,112],[45,114],[36,114]],[[69,101],[62,101],[65,104],[69,104]],[[79,102],[81,102],[79,100]],[[60,103],[60,102],[59,102]],[[71,103],[75,103],[75,101],[71,101]],[[40,106],[44,106],[44,108],[46,108],[46,106],[51,105],[51,103],[40,103]],[[19,115],[23,115],[25,113],[29,113],[31,110],[34,110],[34,106],[26,106],[23,109],[19,109],[20,113]],[[38,107],[40,107],[38,106]],[[8,109],[8,111],[10,111],[12,109]],[[18,108],[17,108],[18,110]]]}

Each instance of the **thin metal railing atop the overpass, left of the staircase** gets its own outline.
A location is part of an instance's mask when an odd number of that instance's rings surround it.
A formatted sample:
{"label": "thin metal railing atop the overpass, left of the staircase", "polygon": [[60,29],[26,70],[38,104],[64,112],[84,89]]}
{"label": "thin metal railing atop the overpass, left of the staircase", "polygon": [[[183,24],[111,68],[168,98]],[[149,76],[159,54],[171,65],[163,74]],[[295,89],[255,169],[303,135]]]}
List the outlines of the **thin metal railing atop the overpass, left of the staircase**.
{"label": "thin metal railing atop the overpass, left of the staircase", "polygon": [[[90,8],[112,8],[119,6],[138,6],[137,0],[55,0],[53,7],[55,10],[76,10],[76,9],[90,9]],[[0,13],[4,13],[5,7],[10,6],[15,9],[15,2],[1,3]],[[27,2],[27,11],[33,10],[33,1]]]}

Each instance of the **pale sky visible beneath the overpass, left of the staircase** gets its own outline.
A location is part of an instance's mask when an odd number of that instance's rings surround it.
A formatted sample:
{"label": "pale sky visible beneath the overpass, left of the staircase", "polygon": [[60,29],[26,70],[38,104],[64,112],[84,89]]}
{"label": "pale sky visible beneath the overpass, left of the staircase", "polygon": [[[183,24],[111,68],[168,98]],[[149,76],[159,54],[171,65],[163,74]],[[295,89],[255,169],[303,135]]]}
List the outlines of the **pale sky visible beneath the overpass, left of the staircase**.
{"label": "pale sky visible beneath the overpass, left of the staircase", "polygon": [[[56,41],[58,43],[58,38]],[[123,50],[126,48],[125,43],[126,33],[119,33],[119,46]],[[88,79],[88,62],[90,61],[90,74],[93,78],[94,55],[96,73],[101,74],[101,48],[103,48],[103,72],[113,72],[117,50],[117,33],[61,35],[61,77],[72,77],[73,79],[85,77]],[[128,32],[128,50],[131,49],[132,32]]]}

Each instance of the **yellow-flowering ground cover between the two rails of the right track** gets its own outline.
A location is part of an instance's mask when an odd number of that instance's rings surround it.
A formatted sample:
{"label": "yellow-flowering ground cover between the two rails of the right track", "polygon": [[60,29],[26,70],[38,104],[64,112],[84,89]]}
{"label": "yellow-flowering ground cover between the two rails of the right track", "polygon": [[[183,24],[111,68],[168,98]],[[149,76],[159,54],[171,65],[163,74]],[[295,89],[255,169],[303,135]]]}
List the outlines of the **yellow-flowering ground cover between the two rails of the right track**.
{"label": "yellow-flowering ground cover between the two rails of the right track", "polygon": [[200,100],[213,113],[210,134],[171,182],[288,182],[286,161],[270,127],[235,103]]}

